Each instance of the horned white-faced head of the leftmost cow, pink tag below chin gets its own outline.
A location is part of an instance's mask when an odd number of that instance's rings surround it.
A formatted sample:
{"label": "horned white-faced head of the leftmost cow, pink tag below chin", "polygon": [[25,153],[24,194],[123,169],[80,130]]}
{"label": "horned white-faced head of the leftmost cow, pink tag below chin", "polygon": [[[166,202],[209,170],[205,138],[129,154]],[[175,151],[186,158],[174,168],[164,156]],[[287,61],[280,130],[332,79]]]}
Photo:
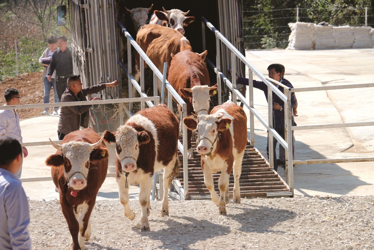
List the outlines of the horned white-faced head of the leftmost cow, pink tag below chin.
{"label": "horned white-faced head of the leftmost cow, pink tag below chin", "polygon": [[74,190],[81,190],[87,185],[90,162],[108,157],[106,148],[97,148],[101,145],[102,139],[93,144],[71,141],[62,145],[56,144],[49,139],[53,147],[61,151],[61,153],[50,155],[46,160],[46,164],[54,167],[64,166],[64,174],[68,185]]}

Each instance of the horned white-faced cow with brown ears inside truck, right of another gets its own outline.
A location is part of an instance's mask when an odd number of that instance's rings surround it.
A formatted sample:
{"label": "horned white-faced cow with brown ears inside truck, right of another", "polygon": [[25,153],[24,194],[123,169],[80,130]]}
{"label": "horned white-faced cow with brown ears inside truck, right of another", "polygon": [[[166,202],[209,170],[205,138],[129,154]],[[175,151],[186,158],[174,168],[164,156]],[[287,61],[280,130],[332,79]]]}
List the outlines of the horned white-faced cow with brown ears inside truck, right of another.
{"label": "horned white-faced cow with brown ears inside truck, right of another", "polygon": [[194,16],[186,16],[188,12],[190,12],[189,10],[183,12],[178,9],[165,10],[164,7],[162,7],[162,9],[164,11],[155,10],[153,12],[149,21],[150,24],[169,27],[184,35],[184,27],[195,21]]}

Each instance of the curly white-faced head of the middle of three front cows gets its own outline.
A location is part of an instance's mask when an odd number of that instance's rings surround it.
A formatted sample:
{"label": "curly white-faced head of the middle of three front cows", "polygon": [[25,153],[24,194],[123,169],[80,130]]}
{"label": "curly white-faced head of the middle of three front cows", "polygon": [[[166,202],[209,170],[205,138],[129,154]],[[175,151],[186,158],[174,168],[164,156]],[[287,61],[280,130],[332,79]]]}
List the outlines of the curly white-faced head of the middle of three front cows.
{"label": "curly white-faced head of the middle of three front cows", "polygon": [[120,126],[116,135],[109,131],[104,132],[104,140],[108,143],[116,142],[116,154],[121,163],[122,170],[132,172],[137,169],[139,145],[150,141],[145,131],[138,132],[131,126]]}

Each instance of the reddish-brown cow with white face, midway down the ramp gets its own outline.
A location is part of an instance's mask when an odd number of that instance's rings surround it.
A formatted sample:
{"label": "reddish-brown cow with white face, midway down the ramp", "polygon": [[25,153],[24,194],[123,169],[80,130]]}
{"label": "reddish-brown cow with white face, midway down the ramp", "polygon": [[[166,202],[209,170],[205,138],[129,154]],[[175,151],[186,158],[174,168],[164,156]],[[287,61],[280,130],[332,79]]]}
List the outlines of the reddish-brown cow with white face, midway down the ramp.
{"label": "reddish-brown cow with white face, midway down the ramp", "polygon": [[[176,55],[172,54],[172,60],[169,68],[168,81],[174,87],[175,91],[181,96],[187,104],[187,116],[193,117],[192,112],[197,115],[207,115],[209,112],[210,97],[216,93],[218,84],[209,87],[209,73],[204,63],[208,51],[201,54],[190,50],[184,50]],[[179,113],[182,108],[178,105]],[[181,116],[182,117],[182,116]],[[193,158],[193,149],[191,147],[192,131],[187,131],[187,152],[188,157]]]}

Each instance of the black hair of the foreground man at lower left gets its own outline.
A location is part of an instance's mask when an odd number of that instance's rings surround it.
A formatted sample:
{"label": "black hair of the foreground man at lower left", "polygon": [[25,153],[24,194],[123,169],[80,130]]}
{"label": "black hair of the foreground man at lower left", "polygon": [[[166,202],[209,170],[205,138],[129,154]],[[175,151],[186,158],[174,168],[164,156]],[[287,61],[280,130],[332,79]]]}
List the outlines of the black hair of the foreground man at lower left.
{"label": "black hair of the foreground man at lower left", "polygon": [[19,142],[10,136],[0,137],[0,167],[8,167],[12,161],[22,154],[22,147]]}

